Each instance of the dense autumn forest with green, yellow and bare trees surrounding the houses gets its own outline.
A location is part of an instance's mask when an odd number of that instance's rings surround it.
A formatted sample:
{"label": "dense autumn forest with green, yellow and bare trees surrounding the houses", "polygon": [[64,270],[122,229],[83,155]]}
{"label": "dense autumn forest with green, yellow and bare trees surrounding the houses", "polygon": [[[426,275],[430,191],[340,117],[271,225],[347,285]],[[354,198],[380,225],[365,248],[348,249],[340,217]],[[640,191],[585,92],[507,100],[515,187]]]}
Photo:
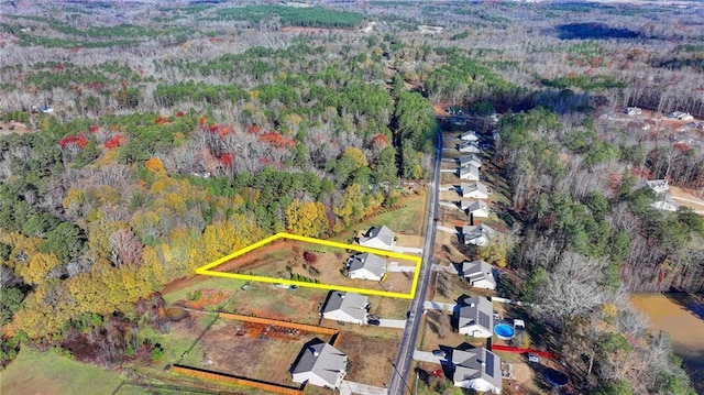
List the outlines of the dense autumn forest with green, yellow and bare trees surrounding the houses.
{"label": "dense autumn forest with green, yellow and bare trees surrounding the houses", "polygon": [[396,205],[429,174],[436,105],[501,114],[520,237],[502,292],[539,306],[580,389],[693,394],[626,296],[704,290],[702,216],[653,208],[644,184],[702,191],[704,139],[601,116],[703,118],[701,10],[230,6],[0,6],[3,364],[25,345],[157,359],[135,334],[166,330],[154,293],[263,237]]}

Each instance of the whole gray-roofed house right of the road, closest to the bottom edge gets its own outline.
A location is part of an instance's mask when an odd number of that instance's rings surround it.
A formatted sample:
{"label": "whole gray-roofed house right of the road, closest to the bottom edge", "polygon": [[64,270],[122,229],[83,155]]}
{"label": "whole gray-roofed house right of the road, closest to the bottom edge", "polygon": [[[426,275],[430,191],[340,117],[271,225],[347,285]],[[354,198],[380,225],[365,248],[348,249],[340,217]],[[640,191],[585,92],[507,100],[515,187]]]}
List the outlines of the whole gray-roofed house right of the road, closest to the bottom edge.
{"label": "whole gray-roofed house right of the road, closest to the bottom edge", "polygon": [[454,385],[479,392],[502,393],[502,360],[480,347],[471,350],[452,350]]}

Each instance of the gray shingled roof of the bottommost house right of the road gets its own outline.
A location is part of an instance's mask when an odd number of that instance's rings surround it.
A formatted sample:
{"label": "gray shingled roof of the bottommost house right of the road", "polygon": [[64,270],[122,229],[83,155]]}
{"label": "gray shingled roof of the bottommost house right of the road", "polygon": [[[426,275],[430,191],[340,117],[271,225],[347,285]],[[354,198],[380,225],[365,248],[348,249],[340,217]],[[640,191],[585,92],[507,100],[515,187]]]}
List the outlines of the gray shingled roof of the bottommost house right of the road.
{"label": "gray shingled roof of the bottommost house right of the road", "polygon": [[502,388],[502,360],[483,347],[472,350],[452,350],[453,381],[484,378]]}

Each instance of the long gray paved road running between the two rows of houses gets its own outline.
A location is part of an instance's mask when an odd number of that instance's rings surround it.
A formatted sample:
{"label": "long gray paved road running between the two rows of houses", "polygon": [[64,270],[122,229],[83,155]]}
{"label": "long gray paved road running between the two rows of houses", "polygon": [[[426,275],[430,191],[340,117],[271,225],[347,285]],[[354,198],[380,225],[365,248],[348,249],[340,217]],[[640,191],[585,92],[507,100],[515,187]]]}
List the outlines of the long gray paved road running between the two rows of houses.
{"label": "long gray paved road running between the two rows of houses", "polygon": [[420,326],[420,318],[422,314],[422,303],[426,300],[426,295],[428,293],[428,279],[430,278],[430,270],[432,268],[431,259],[432,250],[436,244],[435,219],[438,217],[438,186],[440,184],[440,160],[442,157],[441,149],[442,133],[438,131],[438,146],[436,146],[436,163],[432,168],[432,180],[430,182],[428,223],[426,224],[426,241],[424,243],[422,263],[420,265],[419,287],[410,304],[409,316],[406,322],[406,329],[404,330],[404,337],[402,338],[400,345],[398,348],[396,362],[392,363],[394,374],[392,375],[391,383],[388,384],[389,395],[403,395],[406,389],[408,389],[409,393],[413,393],[406,378],[408,377],[408,372],[413,365],[411,358],[416,344],[416,338],[418,337],[418,328]]}

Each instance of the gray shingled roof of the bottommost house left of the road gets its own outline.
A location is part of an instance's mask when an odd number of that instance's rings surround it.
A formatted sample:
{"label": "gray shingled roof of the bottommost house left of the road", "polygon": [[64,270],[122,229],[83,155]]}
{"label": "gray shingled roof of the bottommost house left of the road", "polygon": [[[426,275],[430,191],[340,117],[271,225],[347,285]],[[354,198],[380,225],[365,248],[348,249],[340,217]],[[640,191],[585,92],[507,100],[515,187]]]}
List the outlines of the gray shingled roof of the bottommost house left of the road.
{"label": "gray shingled roof of the bottommost house left of the road", "polygon": [[340,376],[340,372],[345,372],[348,367],[348,355],[334,347],[319,340],[312,344],[306,344],[298,363],[292,370],[292,374],[312,372],[334,387]]}

